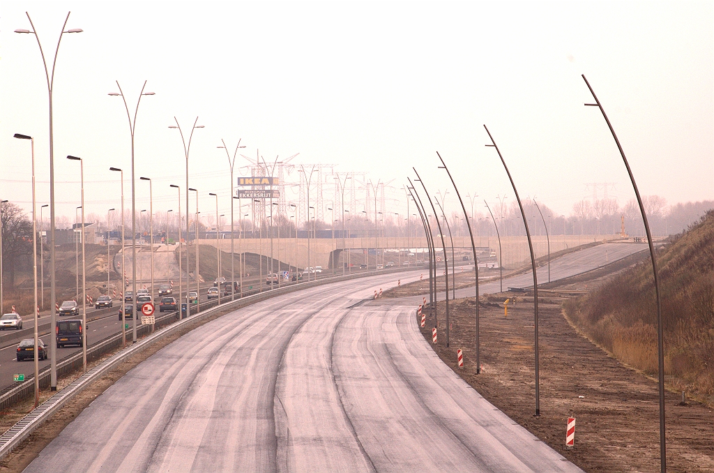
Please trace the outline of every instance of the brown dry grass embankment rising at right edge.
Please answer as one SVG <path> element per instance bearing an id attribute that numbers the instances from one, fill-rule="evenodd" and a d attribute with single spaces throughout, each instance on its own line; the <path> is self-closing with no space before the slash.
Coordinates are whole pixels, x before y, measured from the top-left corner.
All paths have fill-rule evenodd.
<path id="1" fill-rule="evenodd" d="M 714 210 L 657 255 L 665 376 L 670 387 L 714 404 Z M 565 313 L 614 357 L 657 374 L 657 303 L 649 261 L 619 274 Z"/>

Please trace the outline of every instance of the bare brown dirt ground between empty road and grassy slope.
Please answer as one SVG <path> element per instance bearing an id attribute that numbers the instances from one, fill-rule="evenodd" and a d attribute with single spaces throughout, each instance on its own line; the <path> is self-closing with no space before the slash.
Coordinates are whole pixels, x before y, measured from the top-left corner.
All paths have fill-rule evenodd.
<path id="1" fill-rule="evenodd" d="M 577 282 L 573 285 L 583 284 Z M 589 286 L 590 284 L 588 284 Z M 508 295 L 508 294 L 504 294 Z M 541 302 L 542 301 L 542 302 Z M 609 357 L 578 332 L 561 311 L 563 299 L 539 298 L 540 417 L 535 414 L 533 298 L 515 306 L 481 305 L 483 371 L 476 374 L 474 299 L 450 302 L 451 347 L 446 347 L 443 302 L 438 304 L 436 353 L 483 397 L 587 472 L 657 471 L 657 384 Z M 433 317 L 421 329 L 431 344 Z M 456 365 L 463 349 L 465 366 Z M 667 460 L 672 472 L 714 471 L 714 414 L 680 394 L 666 394 Z M 575 417 L 575 447 L 565 449 L 565 425 Z"/>

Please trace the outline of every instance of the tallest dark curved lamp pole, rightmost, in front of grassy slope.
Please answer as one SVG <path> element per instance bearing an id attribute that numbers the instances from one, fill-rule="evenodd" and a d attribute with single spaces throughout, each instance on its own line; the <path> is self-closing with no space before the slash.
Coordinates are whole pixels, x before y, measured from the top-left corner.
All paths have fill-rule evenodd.
<path id="1" fill-rule="evenodd" d="M 603 114 L 603 118 L 605 119 L 605 123 L 608 124 L 608 128 L 610 129 L 610 134 L 613 135 L 613 139 L 615 139 L 615 144 L 618 146 L 618 150 L 620 151 L 620 156 L 623 158 L 623 162 L 625 163 L 625 168 L 627 168 L 628 174 L 630 176 L 630 181 L 632 181 L 632 186 L 633 189 L 635 189 L 635 196 L 637 196 L 637 203 L 640 206 L 640 213 L 642 214 L 642 220 L 643 223 L 645 224 L 645 232 L 647 234 L 647 243 L 648 247 L 650 248 L 650 259 L 652 260 L 652 272 L 654 275 L 655 279 L 655 297 L 657 299 L 657 362 L 658 362 L 658 384 L 659 384 L 659 397 L 660 397 L 660 470 L 665 473 L 667 471 L 667 439 L 665 437 L 665 359 L 664 359 L 664 335 L 663 335 L 663 327 L 662 327 L 662 302 L 660 299 L 660 283 L 658 279 L 658 274 L 657 274 L 657 261 L 655 259 L 655 247 L 652 243 L 652 234 L 650 233 L 650 224 L 647 221 L 647 214 L 645 212 L 645 206 L 642 201 L 642 197 L 640 196 L 640 191 L 637 187 L 637 183 L 635 182 L 635 176 L 632 174 L 632 169 L 630 169 L 630 164 L 628 163 L 627 158 L 625 158 L 625 151 L 623 151 L 623 147 L 620 146 L 620 140 L 618 139 L 618 136 L 615 134 L 615 129 L 613 129 L 612 124 L 610 124 L 610 119 L 608 119 L 607 114 L 605 114 L 605 109 L 603 109 L 603 105 L 600 104 L 600 101 L 598 100 L 598 97 L 595 96 L 595 91 L 593 91 L 593 88 L 590 87 L 590 83 L 588 82 L 588 79 L 585 79 L 585 75 L 583 75 L 583 80 L 585 81 L 585 84 L 588 86 L 588 89 L 590 89 L 590 94 L 593 94 L 593 99 L 595 99 L 595 104 L 585 104 L 586 106 L 597 106 L 598 109 L 600 109 L 600 112 Z"/>

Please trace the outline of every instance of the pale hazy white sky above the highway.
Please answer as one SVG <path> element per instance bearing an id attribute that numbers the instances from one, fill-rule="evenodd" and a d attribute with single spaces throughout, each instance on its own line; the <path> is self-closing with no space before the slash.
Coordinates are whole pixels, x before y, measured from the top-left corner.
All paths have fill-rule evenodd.
<path id="1" fill-rule="evenodd" d="M 266 160 L 336 164 L 401 186 L 423 175 L 432 193 L 449 189 L 436 151 L 463 194 L 509 196 L 486 124 L 522 197 L 558 213 L 613 183 L 633 197 L 622 159 L 580 77 L 605 106 L 643 195 L 669 204 L 714 199 L 714 8 L 703 2 L 111 2 L 0 3 L 0 197 L 30 208 L 29 143 L 36 136 L 37 195 L 49 200 L 48 97 L 28 11 L 51 62 L 67 11 L 54 81 L 58 214 L 79 205 L 85 159 L 86 211 L 119 208 L 126 169 L 131 208 L 129 121 L 136 122 L 136 199 L 176 209 L 169 184 L 185 182 L 174 116 L 204 129 L 191 144 L 191 186 L 201 206 L 220 196 L 228 214 L 228 160 L 216 149 L 239 138 Z M 232 151 L 231 151 L 232 152 Z M 247 164 L 238 157 L 236 166 Z M 236 174 L 246 174 L 246 170 Z M 291 180 L 297 181 L 293 173 Z M 182 192 L 185 189 L 181 189 Z M 453 191 L 448 194 L 453 196 Z M 599 196 L 602 196 L 600 189 Z M 192 196 L 192 204 L 193 206 Z M 479 199 L 481 201 L 481 199 Z M 389 202 L 388 202 L 389 204 Z M 447 199 L 455 209 L 456 201 Z M 183 206 L 183 205 L 182 205 Z M 483 204 L 481 204 L 483 206 Z M 182 209 L 185 211 L 185 209 Z"/>

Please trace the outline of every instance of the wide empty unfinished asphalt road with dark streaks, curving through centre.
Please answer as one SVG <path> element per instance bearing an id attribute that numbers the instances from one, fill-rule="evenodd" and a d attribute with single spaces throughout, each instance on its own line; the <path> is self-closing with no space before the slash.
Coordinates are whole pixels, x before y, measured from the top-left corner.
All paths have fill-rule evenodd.
<path id="1" fill-rule="evenodd" d="M 194 329 L 25 471 L 580 471 L 443 364 L 416 307 L 352 307 L 419 273 L 306 289 Z"/>

